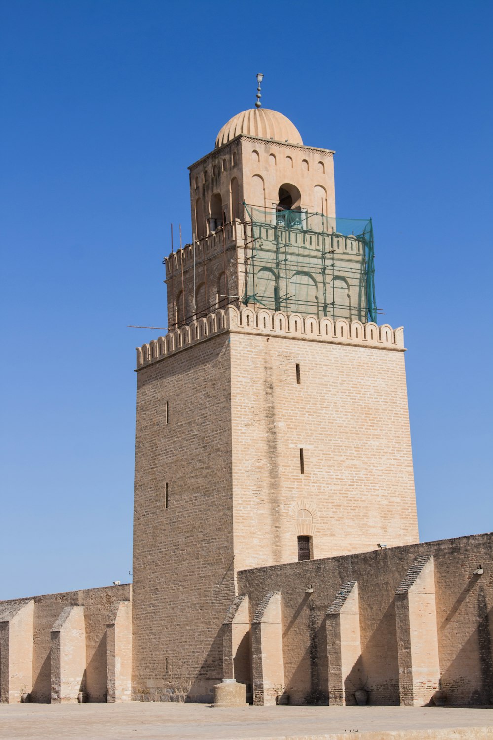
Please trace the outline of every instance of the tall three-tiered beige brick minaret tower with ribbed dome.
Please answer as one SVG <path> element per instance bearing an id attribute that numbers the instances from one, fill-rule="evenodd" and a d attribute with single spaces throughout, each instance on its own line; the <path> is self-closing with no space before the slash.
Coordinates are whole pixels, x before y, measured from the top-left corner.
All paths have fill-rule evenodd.
<path id="1" fill-rule="evenodd" d="M 238 571 L 418 540 L 403 332 L 333 152 L 256 106 L 189 169 L 170 331 L 137 349 L 136 699 L 211 700 Z"/>

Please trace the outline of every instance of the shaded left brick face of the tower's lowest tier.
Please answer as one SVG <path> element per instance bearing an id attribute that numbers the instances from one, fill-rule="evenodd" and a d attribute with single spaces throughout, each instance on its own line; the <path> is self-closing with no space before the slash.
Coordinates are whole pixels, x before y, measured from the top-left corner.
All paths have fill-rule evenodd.
<path id="1" fill-rule="evenodd" d="M 226 333 L 137 373 L 133 696 L 211 702 L 234 599 Z"/>

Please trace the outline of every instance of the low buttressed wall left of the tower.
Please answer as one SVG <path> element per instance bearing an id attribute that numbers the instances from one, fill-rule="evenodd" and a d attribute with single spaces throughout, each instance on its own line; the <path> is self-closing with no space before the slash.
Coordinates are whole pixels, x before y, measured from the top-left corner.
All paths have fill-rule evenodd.
<path id="1" fill-rule="evenodd" d="M 1 702 L 18 702 L 22 693 L 30 702 L 76 702 L 79 693 L 106 702 L 107 623 L 115 602 L 131 608 L 131 593 L 125 584 L 0 602 Z M 121 656 L 131 646 L 127 620 Z"/>

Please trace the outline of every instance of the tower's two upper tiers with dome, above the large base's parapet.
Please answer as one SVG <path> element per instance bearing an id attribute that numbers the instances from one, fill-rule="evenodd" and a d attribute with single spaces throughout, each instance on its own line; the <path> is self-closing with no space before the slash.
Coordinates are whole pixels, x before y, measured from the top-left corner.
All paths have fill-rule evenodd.
<path id="1" fill-rule="evenodd" d="M 336 219 L 334 152 L 282 113 L 238 113 L 190 170 L 193 244 L 166 263 L 168 326 L 231 303 L 375 320 L 368 219 Z"/>

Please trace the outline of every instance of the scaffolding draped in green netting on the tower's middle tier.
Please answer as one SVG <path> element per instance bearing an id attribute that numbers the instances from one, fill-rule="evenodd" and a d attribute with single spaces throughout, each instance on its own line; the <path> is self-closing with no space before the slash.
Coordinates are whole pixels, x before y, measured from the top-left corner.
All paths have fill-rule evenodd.
<path id="1" fill-rule="evenodd" d="M 243 207 L 245 306 L 375 321 L 371 218 Z"/>

